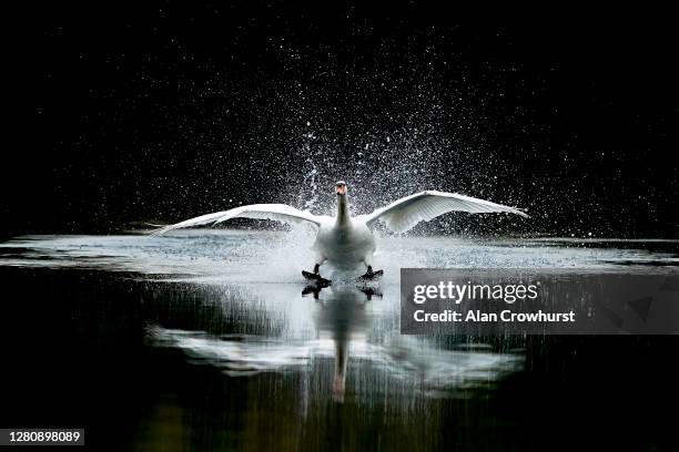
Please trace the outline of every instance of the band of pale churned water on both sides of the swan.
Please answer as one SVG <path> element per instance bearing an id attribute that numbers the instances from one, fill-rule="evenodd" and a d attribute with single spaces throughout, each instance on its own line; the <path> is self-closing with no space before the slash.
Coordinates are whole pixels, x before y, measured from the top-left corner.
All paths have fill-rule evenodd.
<path id="1" fill-rule="evenodd" d="M 99 268 L 168 278 L 234 282 L 303 282 L 313 261 L 313 232 L 185 229 L 162 237 L 27 236 L 0 244 L 0 265 Z M 581 268 L 661 271 L 679 265 L 679 242 L 378 237 L 376 268 L 397 284 L 399 268 Z M 656 248 L 650 250 L 649 248 Z M 657 267 L 661 265 L 662 267 Z"/>

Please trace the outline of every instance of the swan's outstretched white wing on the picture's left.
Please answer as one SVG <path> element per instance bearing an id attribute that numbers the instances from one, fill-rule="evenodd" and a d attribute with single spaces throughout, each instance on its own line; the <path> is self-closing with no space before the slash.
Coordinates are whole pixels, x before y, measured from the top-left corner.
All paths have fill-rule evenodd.
<path id="1" fill-rule="evenodd" d="M 231 218 L 256 218 L 256 219 L 273 219 L 287 224 L 313 223 L 321 226 L 322 217 L 303 212 L 297 208 L 286 206 L 285 204 L 252 204 L 250 206 L 241 206 L 230 210 L 215 212 L 214 214 L 202 215 L 200 217 L 186 219 L 185 222 L 168 225 L 153 230 L 152 234 L 163 234 L 168 230 L 179 229 L 182 227 L 200 226 L 200 225 L 216 225 L 226 222 Z"/>

